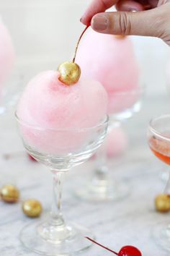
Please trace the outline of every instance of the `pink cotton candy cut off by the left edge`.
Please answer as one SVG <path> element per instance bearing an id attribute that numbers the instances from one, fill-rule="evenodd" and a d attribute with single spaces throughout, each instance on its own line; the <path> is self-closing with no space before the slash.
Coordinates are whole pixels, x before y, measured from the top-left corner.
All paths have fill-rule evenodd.
<path id="1" fill-rule="evenodd" d="M 4 23 L 0 20 L 0 85 L 6 80 L 14 66 L 14 46 Z"/>

